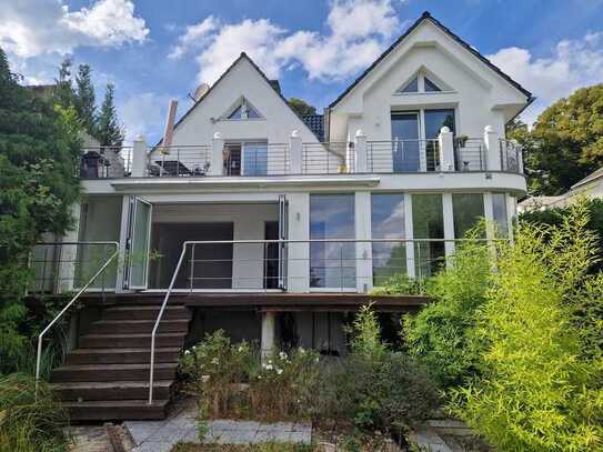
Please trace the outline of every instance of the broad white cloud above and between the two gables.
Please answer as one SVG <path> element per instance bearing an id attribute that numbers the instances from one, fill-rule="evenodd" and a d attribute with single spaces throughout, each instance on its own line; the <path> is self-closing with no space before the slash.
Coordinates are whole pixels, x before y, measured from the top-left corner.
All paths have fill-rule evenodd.
<path id="1" fill-rule="evenodd" d="M 210 16 L 188 27 L 170 57 L 195 54 L 199 81 L 214 82 L 241 51 L 268 77 L 300 64 L 311 79 L 340 79 L 372 62 L 400 29 L 392 0 L 334 0 L 326 32 L 289 32 L 269 19 L 223 23 Z"/>

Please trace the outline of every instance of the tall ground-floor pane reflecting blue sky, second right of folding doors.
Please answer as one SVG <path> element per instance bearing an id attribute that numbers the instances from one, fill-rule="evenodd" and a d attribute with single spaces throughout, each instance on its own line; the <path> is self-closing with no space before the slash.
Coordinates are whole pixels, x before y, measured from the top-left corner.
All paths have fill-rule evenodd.
<path id="1" fill-rule="evenodd" d="M 373 194 L 371 197 L 371 230 L 373 239 L 404 239 L 404 195 Z M 373 285 L 396 274 L 406 273 L 404 242 L 374 242 Z"/>

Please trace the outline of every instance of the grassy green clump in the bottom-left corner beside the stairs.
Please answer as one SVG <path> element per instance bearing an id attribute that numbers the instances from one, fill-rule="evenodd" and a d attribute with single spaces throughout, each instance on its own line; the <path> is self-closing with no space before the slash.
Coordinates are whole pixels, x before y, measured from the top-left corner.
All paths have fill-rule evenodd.
<path id="1" fill-rule="evenodd" d="M 67 451 L 67 412 L 43 382 L 36 398 L 31 376 L 14 373 L 0 378 L 1 452 Z"/>

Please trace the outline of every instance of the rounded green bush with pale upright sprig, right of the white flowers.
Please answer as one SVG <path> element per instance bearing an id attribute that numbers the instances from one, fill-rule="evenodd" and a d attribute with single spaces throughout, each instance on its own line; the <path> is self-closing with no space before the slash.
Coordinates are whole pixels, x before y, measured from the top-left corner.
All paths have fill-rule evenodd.
<path id="1" fill-rule="evenodd" d="M 376 315 L 363 307 L 353 323 L 351 353 L 331 364 L 319 385 L 323 418 L 351 421 L 362 430 L 392 429 L 424 419 L 438 405 L 425 370 L 381 341 Z"/>

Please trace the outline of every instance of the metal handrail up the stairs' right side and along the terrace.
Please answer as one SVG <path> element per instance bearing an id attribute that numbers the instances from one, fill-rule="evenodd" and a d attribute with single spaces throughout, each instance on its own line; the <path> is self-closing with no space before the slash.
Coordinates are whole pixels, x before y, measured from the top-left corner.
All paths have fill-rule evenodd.
<path id="1" fill-rule="evenodd" d="M 150 368 L 149 368 L 149 404 L 153 403 L 153 382 L 154 382 L 154 350 L 155 350 L 155 335 L 157 330 L 159 329 L 159 324 L 161 323 L 161 319 L 163 317 L 163 312 L 165 311 L 165 308 L 168 305 L 168 301 L 170 299 L 170 295 L 173 292 L 173 287 L 175 284 L 177 277 L 180 272 L 180 269 L 182 267 L 182 262 L 184 261 L 184 255 L 187 253 L 188 245 L 197 245 L 197 244 L 290 244 L 290 243 L 414 243 L 414 242 L 425 242 L 425 243 L 446 243 L 446 242 L 495 242 L 495 241 L 507 241 L 509 239 L 500 239 L 500 238 L 491 238 L 491 239 L 274 239 L 274 240 L 261 240 L 261 239 L 249 239 L 249 240 L 191 240 L 185 241 L 182 243 L 182 252 L 180 253 L 180 258 L 178 259 L 178 264 L 175 265 L 175 270 L 172 274 L 172 279 L 170 281 L 170 285 L 165 292 L 165 297 L 163 298 L 163 302 L 161 304 L 161 308 L 159 310 L 159 313 L 155 319 L 155 323 L 153 325 L 153 330 L 151 332 L 151 358 L 150 358 Z M 193 248 L 194 250 L 194 248 Z M 421 259 L 421 247 L 419 247 L 419 259 Z M 288 261 L 291 259 L 288 259 Z M 294 260 L 294 259 L 293 259 Z M 348 260 L 348 259 L 346 259 Z M 355 260 L 355 259 L 354 259 Z M 193 255 L 194 261 L 194 255 Z M 194 261 L 197 262 L 197 261 Z M 421 272 L 421 269 L 419 269 Z M 192 265 L 191 265 L 191 273 L 192 273 Z M 192 291 L 192 278 L 191 278 L 191 287 L 190 290 Z"/>

